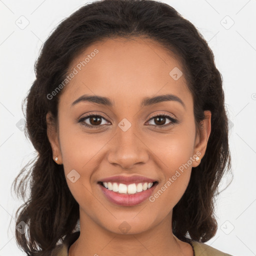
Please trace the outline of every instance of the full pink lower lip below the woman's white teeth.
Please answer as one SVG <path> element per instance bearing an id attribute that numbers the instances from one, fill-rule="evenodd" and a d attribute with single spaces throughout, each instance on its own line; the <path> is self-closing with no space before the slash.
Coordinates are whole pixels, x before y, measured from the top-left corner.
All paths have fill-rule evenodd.
<path id="1" fill-rule="evenodd" d="M 141 192 L 137 192 L 135 194 L 123 194 L 123 193 L 117 193 L 113 192 L 111 190 L 108 190 L 101 184 L 98 184 L 104 193 L 104 195 L 113 203 L 122 205 L 122 206 L 132 206 L 139 204 L 143 202 L 145 199 L 147 199 L 153 192 L 155 186 L 157 183 L 153 186 L 151 186 L 149 189 L 143 190 Z"/>

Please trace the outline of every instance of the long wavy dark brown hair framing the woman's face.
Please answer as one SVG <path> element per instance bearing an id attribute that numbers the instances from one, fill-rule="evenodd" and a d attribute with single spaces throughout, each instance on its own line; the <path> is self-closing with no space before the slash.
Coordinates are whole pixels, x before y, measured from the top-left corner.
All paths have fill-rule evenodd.
<path id="1" fill-rule="evenodd" d="M 182 241 L 201 242 L 216 233 L 214 200 L 224 172 L 230 170 L 231 159 L 222 76 L 211 49 L 195 26 L 168 4 L 154 0 L 98 0 L 62 20 L 43 43 L 34 65 L 36 78 L 22 102 L 23 106 L 26 101 L 25 136 L 38 153 L 12 183 L 24 201 L 16 211 L 16 225 L 26 223 L 26 233 L 15 230 L 15 238 L 27 255 L 43 255 L 72 233 L 79 221 L 79 205 L 68 189 L 63 165 L 52 160 L 47 138 L 45 116 L 50 111 L 53 121 L 57 119 L 58 98 L 63 90 L 50 100 L 46 95 L 65 79 L 71 61 L 93 42 L 132 36 L 151 38 L 180 60 L 192 93 L 197 127 L 205 117 L 203 111 L 211 111 L 207 148 L 173 208 L 172 232 Z"/>

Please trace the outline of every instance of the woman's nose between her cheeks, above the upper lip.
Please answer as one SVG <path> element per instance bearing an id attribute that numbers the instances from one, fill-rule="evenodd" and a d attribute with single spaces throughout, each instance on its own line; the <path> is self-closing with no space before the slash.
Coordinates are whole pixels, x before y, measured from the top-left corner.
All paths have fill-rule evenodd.
<path id="1" fill-rule="evenodd" d="M 123 131 L 119 127 L 110 141 L 108 162 L 120 165 L 122 169 L 130 169 L 135 164 L 146 163 L 148 160 L 148 148 L 133 126 Z"/>

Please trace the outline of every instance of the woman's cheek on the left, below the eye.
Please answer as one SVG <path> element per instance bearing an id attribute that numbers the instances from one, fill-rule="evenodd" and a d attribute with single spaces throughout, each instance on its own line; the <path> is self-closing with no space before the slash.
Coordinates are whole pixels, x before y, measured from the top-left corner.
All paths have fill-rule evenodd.
<path id="1" fill-rule="evenodd" d="M 64 121 L 60 123 L 59 140 L 66 182 L 73 197 L 80 204 L 84 198 L 90 201 L 89 181 L 93 171 L 91 163 L 100 146 L 95 143 L 95 139 L 93 141 L 92 136 L 85 138 L 84 133 L 78 132 L 76 126 L 78 124 Z"/>

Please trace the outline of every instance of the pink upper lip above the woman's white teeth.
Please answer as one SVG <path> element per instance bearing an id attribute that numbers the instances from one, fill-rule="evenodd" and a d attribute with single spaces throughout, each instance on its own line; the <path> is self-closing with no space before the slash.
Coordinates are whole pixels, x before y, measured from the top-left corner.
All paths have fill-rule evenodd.
<path id="1" fill-rule="evenodd" d="M 117 176 L 102 178 L 99 182 L 118 182 L 122 184 L 131 184 L 131 183 L 141 183 L 141 182 L 150 183 L 154 181 L 156 180 L 145 177 L 145 176 L 140 176 L 140 175 L 132 175 L 132 176 L 117 175 Z"/>

